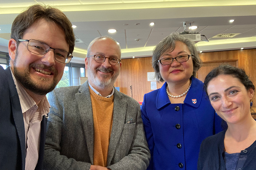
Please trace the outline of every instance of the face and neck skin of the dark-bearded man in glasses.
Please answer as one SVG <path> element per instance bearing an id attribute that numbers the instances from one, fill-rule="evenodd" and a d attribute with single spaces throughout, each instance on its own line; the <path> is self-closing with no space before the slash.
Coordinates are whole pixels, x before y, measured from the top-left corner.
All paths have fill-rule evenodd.
<path id="1" fill-rule="evenodd" d="M 64 31 L 54 22 L 47 22 L 45 19 L 35 21 L 32 26 L 25 31 L 22 39 L 39 40 L 52 48 L 69 51 L 69 45 L 65 40 Z M 15 77 L 21 76 L 17 81 L 19 81 L 23 87 L 26 86 L 27 83 L 23 82 L 23 79 L 26 79 L 32 84 L 31 86 L 33 86 L 33 88 L 37 89 L 33 90 L 33 88 L 24 87 L 38 104 L 47 94 L 47 91 L 51 91 L 51 87 L 55 87 L 60 81 L 66 64 L 55 60 L 53 49 L 50 49 L 44 55 L 38 55 L 28 51 L 27 44 L 28 42 L 20 42 L 17 46 L 17 42 L 14 39 L 9 40 L 10 66 Z M 51 74 L 36 71 L 35 68 L 50 72 Z M 36 92 L 40 90 L 44 90 L 46 93 L 39 94 Z"/>

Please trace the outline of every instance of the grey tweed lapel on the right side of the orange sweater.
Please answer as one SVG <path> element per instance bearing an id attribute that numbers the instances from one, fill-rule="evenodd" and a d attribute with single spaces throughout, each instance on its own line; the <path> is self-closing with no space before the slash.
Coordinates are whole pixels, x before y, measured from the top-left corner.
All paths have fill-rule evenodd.
<path id="1" fill-rule="evenodd" d="M 107 166 L 111 165 L 111 160 L 114 156 L 119 139 L 123 132 L 127 103 L 119 97 L 119 92 L 114 91 L 114 108 L 113 108 L 113 124 L 109 141 Z"/>

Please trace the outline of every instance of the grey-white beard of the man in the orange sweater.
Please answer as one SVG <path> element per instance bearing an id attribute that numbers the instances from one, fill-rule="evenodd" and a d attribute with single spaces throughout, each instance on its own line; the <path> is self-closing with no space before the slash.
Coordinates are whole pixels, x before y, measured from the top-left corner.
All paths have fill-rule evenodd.
<path id="1" fill-rule="evenodd" d="M 117 72 L 114 72 L 113 69 L 104 67 L 98 67 L 96 68 L 96 70 L 94 70 L 89 66 L 89 64 L 87 68 L 88 79 L 91 81 L 91 83 L 100 88 L 114 86 L 114 83 L 120 73 L 120 69 Z M 101 71 L 104 73 L 112 72 L 112 75 L 101 75 L 100 79 L 97 77 L 96 71 Z"/>

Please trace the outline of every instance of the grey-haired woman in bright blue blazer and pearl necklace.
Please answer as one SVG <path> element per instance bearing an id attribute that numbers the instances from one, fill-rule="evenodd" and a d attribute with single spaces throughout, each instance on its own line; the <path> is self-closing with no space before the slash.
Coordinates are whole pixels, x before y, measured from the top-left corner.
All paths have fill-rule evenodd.
<path id="1" fill-rule="evenodd" d="M 195 78 L 202 61 L 194 41 L 170 34 L 155 47 L 152 65 L 165 84 L 145 94 L 142 103 L 148 170 L 196 170 L 200 144 L 221 131 L 221 119 Z"/>

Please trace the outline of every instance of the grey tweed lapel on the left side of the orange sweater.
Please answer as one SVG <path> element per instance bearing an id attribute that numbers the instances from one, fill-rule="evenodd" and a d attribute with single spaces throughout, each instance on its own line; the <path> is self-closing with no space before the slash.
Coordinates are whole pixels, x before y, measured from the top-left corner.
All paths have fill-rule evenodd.
<path id="1" fill-rule="evenodd" d="M 91 106 L 91 97 L 88 81 L 81 85 L 78 94 L 75 94 L 76 103 L 78 105 L 79 114 L 81 117 L 85 142 L 89 152 L 90 162 L 93 164 L 94 152 L 94 123 L 93 123 L 93 108 Z"/>

